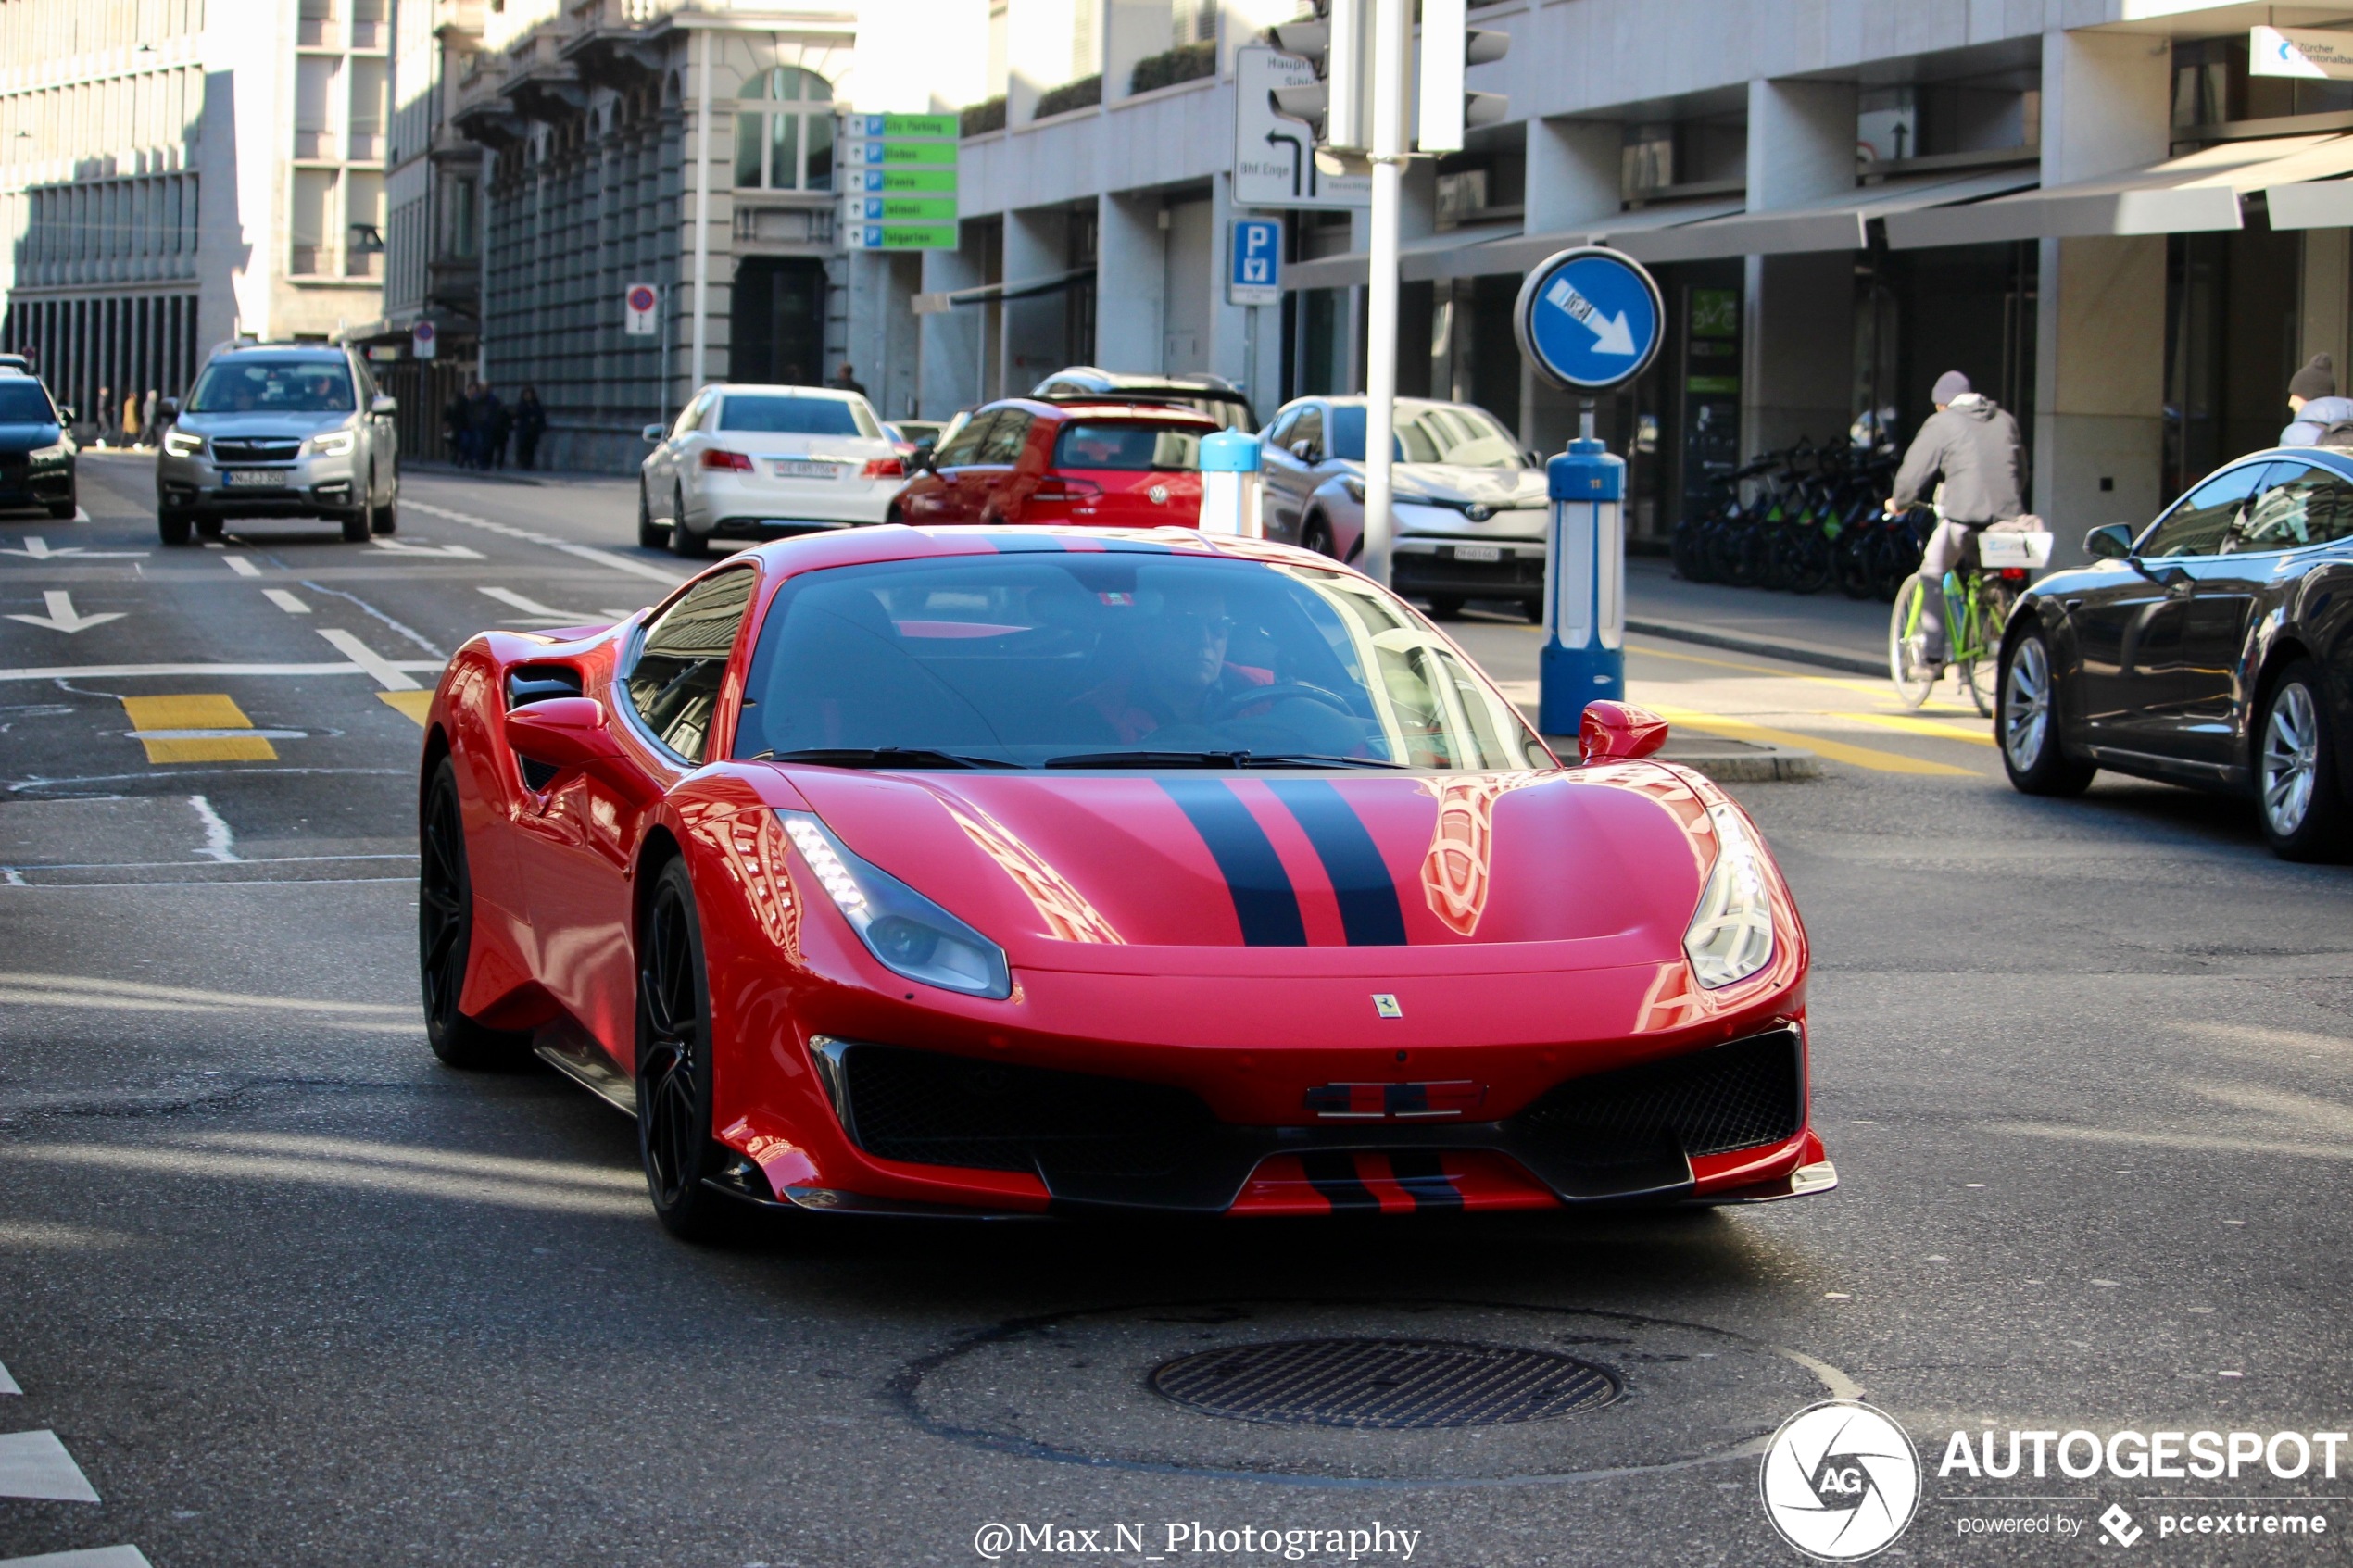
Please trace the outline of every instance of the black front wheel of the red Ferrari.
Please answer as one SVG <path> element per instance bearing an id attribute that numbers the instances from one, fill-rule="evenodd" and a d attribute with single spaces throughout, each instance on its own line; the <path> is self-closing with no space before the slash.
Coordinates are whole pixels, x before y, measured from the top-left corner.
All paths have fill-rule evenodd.
<path id="1" fill-rule="evenodd" d="M 718 1239 L 734 1201 L 704 1187 L 720 1171 L 711 1138 L 711 978 L 682 860 L 654 879 L 638 940 L 638 1150 L 654 1213 L 671 1234 Z"/>

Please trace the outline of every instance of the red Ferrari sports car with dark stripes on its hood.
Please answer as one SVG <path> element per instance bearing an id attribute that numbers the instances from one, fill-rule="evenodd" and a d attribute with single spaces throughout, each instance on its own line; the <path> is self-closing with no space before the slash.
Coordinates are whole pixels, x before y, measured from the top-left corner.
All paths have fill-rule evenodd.
<path id="1" fill-rule="evenodd" d="M 781 541 L 449 663 L 428 1032 L 633 1110 L 680 1234 L 1831 1187 L 1798 910 L 1661 738 L 1562 766 L 1306 550 Z"/>

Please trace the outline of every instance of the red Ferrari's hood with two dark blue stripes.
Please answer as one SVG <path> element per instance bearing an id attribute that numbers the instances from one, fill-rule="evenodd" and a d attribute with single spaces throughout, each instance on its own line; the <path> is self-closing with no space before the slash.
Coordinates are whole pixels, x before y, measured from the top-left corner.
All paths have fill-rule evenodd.
<path id="1" fill-rule="evenodd" d="M 788 769 L 859 856 L 1005 945 L 1106 973 L 1682 961 L 1715 858 L 1654 762 L 1544 773 Z"/>

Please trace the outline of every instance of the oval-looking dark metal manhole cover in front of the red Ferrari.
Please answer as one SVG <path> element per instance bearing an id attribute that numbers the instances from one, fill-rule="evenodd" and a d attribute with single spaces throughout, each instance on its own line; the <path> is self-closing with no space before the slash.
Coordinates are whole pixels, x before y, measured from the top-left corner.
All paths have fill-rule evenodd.
<path id="1" fill-rule="evenodd" d="M 1551 1420 L 1619 1396 L 1574 1356 L 1440 1340 L 1228 1345 L 1162 1363 L 1153 1389 L 1209 1415 L 1372 1432 Z"/>

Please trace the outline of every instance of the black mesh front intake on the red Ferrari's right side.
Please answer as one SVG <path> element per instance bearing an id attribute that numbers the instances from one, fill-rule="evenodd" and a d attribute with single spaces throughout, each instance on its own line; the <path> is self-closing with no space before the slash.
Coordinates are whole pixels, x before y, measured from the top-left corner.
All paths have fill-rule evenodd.
<path id="1" fill-rule="evenodd" d="M 1541 1140 L 1624 1157 L 1673 1138 L 1685 1154 L 1784 1143 L 1805 1126 L 1798 1030 L 1774 1030 L 1664 1063 L 1569 1079 L 1513 1119 Z"/>

